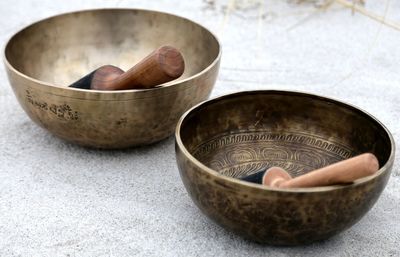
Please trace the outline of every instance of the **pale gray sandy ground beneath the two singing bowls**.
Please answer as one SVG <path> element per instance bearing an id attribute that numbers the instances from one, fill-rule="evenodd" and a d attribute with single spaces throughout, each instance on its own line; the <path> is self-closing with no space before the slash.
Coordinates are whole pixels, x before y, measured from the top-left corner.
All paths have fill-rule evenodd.
<path id="1" fill-rule="evenodd" d="M 323 12 L 293 2 L 2 0 L 0 40 L 4 46 L 22 26 L 86 8 L 183 15 L 222 42 L 213 97 L 271 88 L 326 95 L 372 113 L 399 141 L 400 31 L 339 5 Z M 399 1 L 366 2 L 400 21 Z M 379 201 L 351 229 L 306 247 L 260 246 L 199 212 L 179 179 L 172 137 L 125 151 L 63 142 L 28 119 L 0 69 L 0 256 L 400 256 L 397 162 Z"/>

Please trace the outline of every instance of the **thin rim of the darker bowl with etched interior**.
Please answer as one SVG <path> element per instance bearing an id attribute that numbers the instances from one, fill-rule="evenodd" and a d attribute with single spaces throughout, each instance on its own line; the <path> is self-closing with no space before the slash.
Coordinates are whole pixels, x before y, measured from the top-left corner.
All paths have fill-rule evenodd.
<path id="1" fill-rule="evenodd" d="M 242 95 L 251 95 L 251 94 L 285 94 L 285 95 L 296 95 L 296 96 L 302 96 L 302 97 L 312 97 L 312 98 L 317 98 L 319 100 L 327 101 L 327 102 L 330 102 L 330 103 L 333 103 L 333 104 L 336 104 L 336 105 L 341 105 L 343 107 L 350 108 L 352 110 L 358 111 L 361 114 L 364 114 L 368 118 L 372 119 L 374 122 L 376 122 L 378 125 L 380 125 L 384 129 L 384 131 L 386 132 L 386 134 L 387 134 L 387 136 L 388 136 L 388 138 L 390 140 L 390 146 L 391 146 L 391 151 L 390 151 L 389 158 L 386 161 L 386 163 L 382 167 L 380 167 L 380 169 L 375 174 L 373 174 L 371 176 L 368 176 L 368 177 L 357 179 L 352 184 L 346 184 L 346 185 L 332 185 L 332 186 L 309 187 L 309 188 L 274 188 L 274 187 L 269 187 L 269 186 L 265 186 L 265 185 L 259 185 L 259 184 L 255 184 L 255 183 L 251 183 L 251 182 L 242 181 L 242 180 L 237 179 L 237 178 L 233 178 L 233 177 L 222 175 L 222 174 L 218 173 L 217 171 L 207 167 L 206 165 L 204 165 L 199 160 L 197 160 L 186 149 L 185 145 L 182 142 L 181 136 L 180 136 L 180 131 L 181 131 L 182 124 L 185 121 L 185 119 L 192 112 L 196 111 L 198 108 L 201 108 L 203 106 L 206 106 L 206 105 L 209 105 L 209 104 L 213 104 L 213 103 L 218 102 L 220 100 L 225 100 L 225 99 L 228 99 L 228 98 L 231 98 L 231 97 L 239 97 L 239 96 L 242 96 Z M 383 173 L 388 171 L 390 169 L 390 167 L 393 165 L 394 157 L 395 157 L 395 141 L 394 141 L 394 138 L 393 138 L 392 134 L 386 128 L 386 126 L 383 125 L 383 123 L 380 122 L 373 115 L 371 115 L 370 113 L 364 111 L 363 109 L 361 109 L 359 107 L 356 107 L 355 105 L 349 104 L 347 102 L 343 102 L 343 101 L 340 101 L 340 100 L 337 100 L 337 99 L 334 99 L 334 98 L 331 98 L 331 97 L 326 97 L 326 96 L 317 95 L 317 94 L 311 94 L 311 93 L 297 91 L 297 90 L 275 90 L 275 89 L 270 89 L 270 90 L 246 90 L 246 91 L 240 91 L 240 92 L 236 92 L 236 93 L 225 94 L 225 95 L 222 95 L 222 96 L 219 96 L 219 97 L 215 97 L 215 98 L 203 101 L 203 102 L 193 106 L 189 110 L 187 110 L 181 116 L 181 118 L 179 119 L 179 121 L 177 123 L 176 129 L 175 129 L 175 142 L 176 142 L 176 145 L 179 148 L 179 150 L 182 151 L 182 153 L 186 156 L 186 158 L 188 158 L 192 162 L 192 164 L 197 166 L 200 170 L 203 170 L 203 171 L 207 172 L 208 175 L 210 175 L 210 176 L 213 176 L 215 178 L 228 181 L 228 182 L 236 184 L 238 186 L 244 186 L 244 187 L 249 187 L 249 188 L 257 188 L 257 189 L 261 189 L 263 191 L 277 191 L 277 192 L 315 193 L 315 192 L 328 192 L 328 191 L 333 191 L 333 190 L 338 190 L 338 189 L 357 187 L 359 185 L 365 184 L 365 183 L 367 183 L 367 182 L 369 182 L 369 181 L 381 176 Z M 177 153 L 177 149 L 176 149 L 176 153 Z"/>

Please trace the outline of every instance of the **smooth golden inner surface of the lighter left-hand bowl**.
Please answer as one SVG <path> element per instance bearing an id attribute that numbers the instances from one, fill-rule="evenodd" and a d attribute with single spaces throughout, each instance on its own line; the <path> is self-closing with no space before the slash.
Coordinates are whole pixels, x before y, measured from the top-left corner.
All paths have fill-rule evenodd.
<path id="1" fill-rule="evenodd" d="M 170 14 L 129 9 L 82 11 L 37 22 L 7 44 L 6 59 L 19 72 L 67 86 L 111 64 L 127 70 L 161 45 L 179 49 L 185 72 L 208 67 L 219 54 L 216 38 L 200 25 Z"/>

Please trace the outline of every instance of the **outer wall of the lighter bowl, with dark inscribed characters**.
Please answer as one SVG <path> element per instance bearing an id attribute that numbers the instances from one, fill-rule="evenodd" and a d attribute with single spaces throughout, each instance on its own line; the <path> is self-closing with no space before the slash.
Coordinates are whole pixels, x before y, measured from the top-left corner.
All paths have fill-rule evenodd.
<path id="1" fill-rule="evenodd" d="M 126 148 L 173 134 L 179 117 L 206 100 L 214 87 L 219 61 L 200 76 L 173 87 L 110 94 L 68 90 L 27 80 L 7 67 L 15 96 L 28 116 L 54 135 L 84 146 Z M 65 94 L 65 92 L 68 92 Z M 85 95 L 90 94 L 90 98 Z M 103 99 L 108 98 L 108 99 Z"/>

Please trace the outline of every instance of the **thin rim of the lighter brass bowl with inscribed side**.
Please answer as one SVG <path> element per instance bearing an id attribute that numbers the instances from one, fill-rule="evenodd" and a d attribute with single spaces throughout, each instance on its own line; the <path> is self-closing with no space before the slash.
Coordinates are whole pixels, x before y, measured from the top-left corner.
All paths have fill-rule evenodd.
<path id="1" fill-rule="evenodd" d="M 158 14 L 163 14 L 163 15 L 169 15 L 169 16 L 173 16 L 175 18 L 179 18 L 182 20 L 185 20 L 187 22 L 191 22 L 197 26 L 199 26 L 200 28 L 204 29 L 205 31 L 207 31 L 208 33 L 210 33 L 210 35 L 215 39 L 217 46 L 218 46 L 218 54 L 215 57 L 215 59 L 207 66 L 205 67 L 203 70 L 201 70 L 200 72 L 187 77 L 185 79 L 182 80 L 173 80 L 164 84 L 161 84 L 157 87 L 154 88 L 149 88 L 149 89 L 126 89 L 126 90 L 87 90 L 87 89 L 80 89 L 80 88 L 70 88 L 67 86 L 62 86 L 62 85 L 56 85 L 53 83 L 49 83 L 46 81 L 42 81 L 39 79 L 35 79 L 33 77 L 30 77 L 22 72 L 20 72 L 19 70 L 17 70 L 16 68 L 14 68 L 13 65 L 11 65 L 11 63 L 9 62 L 7 56 L 6 56 L 6 50 L 8 48 L 8 46 L 10 45 L 11 41 L 14 39 L 14 37 L 16 35 L 18 35 L 19 33 L 23 32 L 24 30 L 35 26 L 41 22 L 44 22 L 46 20 L 50 20 L 50 19 L 55 19 L 58 17 L 62 17 L 62 16 L 69 16 L 69 15 L 74 15 L 74 14 L 79 14 L 79 13 L 86 13 L 86 12 L 97 12 L 97 11 L 139 11 L 139 12 L 147 12 L 147 13 L 158 13 Z M 131 92 L 148 92 L 148 91 L 159 91 L 159 90 L 163 90 L 166 88 L 171 88 L 173 86 L 177 86 L 180 84 L 183 84 L 187 81 L 196 79 L 200 76 L 202 76 L 204 73 L 208 72 L 210 69 L 212 69 L 221 59 L 221 55 L 222 55 L 222 47 L 221 47 L 221 42 L 219 41 L 218 37 L 216 36 L 215 33 L 213 33 L 210 29 L 206 28 L 205 26 L 201 25 L 200 23 L 191 20 L 189 18 L 177 15 L 177 14 L 173 14 L 170 12 L 163 12 L 163 11 L 158 11 L 158 10 L 152 10 L 152 9 L 146 9 L 146 8 L 124 8 L 124 7 L 116 7 L 116 8 L 89 8 L 89 9 L 81 9 L 81 10 L 74 10 L 74 11 L 68 11 L 68 12 L 62 12 L 59 14 L 55 14 L 55 15 L 51 15 L 42 19 L 38 19 L 34 22 L 29 23 L 28 25 L 23 26 L 22 28 L 20 28 L 19 30 L 17 30 L 16 32 L 14 32 L 6 41 L 6 43 L 3 46 L 2 49 L 2 58 L 3 58 L 3 63 L 5 64 L 5 66 L 7 67 L 7 69 L 11 70 L 12 72 L 16 73 L 17 75 L 23 77 L 24 79 L 29 80 L 30 82 L 36 83 L 36 84 L 40 84 L 42 86 L 46 86 L 46 87 L 50 87 L 50 88 L 57 88 L 57 89 L 66 89 L 67 91 L 76 91 L 76 92 L 83 92 L 83 93 L 88 93 L 88 92 L 92 92 L 92 93 L 98 93 L 98 94 L 124 94 L 124 93 L 131 93 Z M 70 96 L 71 97 L 71 96 Z"/>

